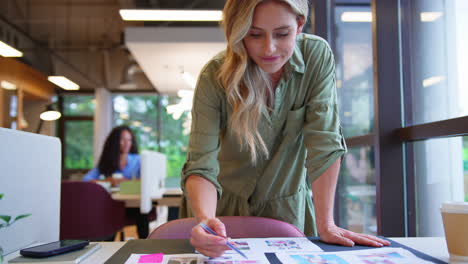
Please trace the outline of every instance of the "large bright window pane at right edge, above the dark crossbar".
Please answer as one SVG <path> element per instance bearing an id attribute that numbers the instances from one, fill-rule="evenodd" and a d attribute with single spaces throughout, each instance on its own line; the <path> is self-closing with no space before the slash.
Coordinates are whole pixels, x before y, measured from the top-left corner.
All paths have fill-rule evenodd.
<path id="1" fill-rule="evenodd" d="M 415 0 L 407 9 L 406 125 L 468 115 L 468 1 Z"/>

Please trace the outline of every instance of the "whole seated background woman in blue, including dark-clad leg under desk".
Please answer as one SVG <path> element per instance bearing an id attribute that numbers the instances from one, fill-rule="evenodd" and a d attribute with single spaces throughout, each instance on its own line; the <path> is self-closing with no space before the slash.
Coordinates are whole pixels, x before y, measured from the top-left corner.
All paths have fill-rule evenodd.
<path id="1" fill-rule="evenodd" d="M 123 177 L 114 178 L 113 174 Z M 122 181 L 140 178 L 140 156 L 138 144 L 132 130 L 128 126 L 117 126 L 107 136 L 104 148 L 96 168 L 89 171 L 84 181 L 110 181 L 112 186 Z M 139 238 L 146 238 L 149 233 L 149 221 L 156 217 L 155 209 L 146 214 L 140 213 L 140 208 L 127 208 L 127 225 L 136 224 Z"/>

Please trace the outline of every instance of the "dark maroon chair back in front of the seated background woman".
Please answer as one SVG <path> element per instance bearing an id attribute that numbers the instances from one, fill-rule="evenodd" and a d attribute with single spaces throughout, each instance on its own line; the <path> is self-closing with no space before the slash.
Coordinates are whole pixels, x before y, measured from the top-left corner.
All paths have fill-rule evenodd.
<path id="1" fill-rule="evenodd" d="M 96 240 L 125 225 L 125 203 L 115 201 L 99 184 L 62 182 L 60 239 Z"/>

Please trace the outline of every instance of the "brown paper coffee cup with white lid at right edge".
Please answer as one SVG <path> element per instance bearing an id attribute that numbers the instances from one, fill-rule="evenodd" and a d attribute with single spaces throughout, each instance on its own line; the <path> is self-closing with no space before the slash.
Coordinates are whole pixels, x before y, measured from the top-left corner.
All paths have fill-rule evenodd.
<path id="1" fill-rule="evenodd" d="M 440 211 L 450 260 L 468 262 L 468 203 L 446 202 Z"/>

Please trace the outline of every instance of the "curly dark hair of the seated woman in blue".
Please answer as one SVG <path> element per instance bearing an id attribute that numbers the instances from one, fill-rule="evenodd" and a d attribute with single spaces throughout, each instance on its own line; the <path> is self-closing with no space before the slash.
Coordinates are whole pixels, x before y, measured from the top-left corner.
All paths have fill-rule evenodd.
<path id="1" fill-rule="evenodd" d="M 128 131 L 130 135 L 132 135 L 132 147 L 130 148 L 130 153 L 138 154 L 138 144 L 130 127 L 114 127 L 106 138 L 98 163 L 100 173 L 104 174 L 106 177 L 111 176 L 112 173 L 119 170 L 120 135 L 124 130 Z"/>

